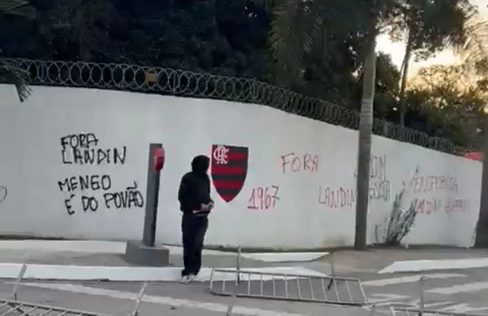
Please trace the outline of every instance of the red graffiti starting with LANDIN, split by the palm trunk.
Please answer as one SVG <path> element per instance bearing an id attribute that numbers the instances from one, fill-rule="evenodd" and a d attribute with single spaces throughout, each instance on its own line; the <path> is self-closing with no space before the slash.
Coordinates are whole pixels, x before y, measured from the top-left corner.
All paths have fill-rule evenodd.
<path id="1" fill-rule="evenodd" d="M 391 199 L 391 183 L 386 173 L 386 155 L 371 155 L 369 165 L 369 198 L 388 202 Z M 357 165 L 357 163 L 356 163 Z M 355 178 L 358 169 L 353 173 L 353 184 L 350 187 L 319 187 L 318 203 L 329 209 L 352 209 L 356 203 Z"/>

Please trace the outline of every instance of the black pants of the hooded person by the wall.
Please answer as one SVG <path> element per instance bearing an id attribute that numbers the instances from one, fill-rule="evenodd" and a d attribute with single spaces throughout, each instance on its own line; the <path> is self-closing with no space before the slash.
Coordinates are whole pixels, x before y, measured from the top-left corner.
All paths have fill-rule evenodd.
<path id="1" fill-rule="evenodd" d="M 181 275 L 197 275 L 200 272 L 203 239 L 208 226 L 208 216 L 183 213 L 181 232 L 183 233 L 183 263 L 185 267 L 181 271 Z"/>

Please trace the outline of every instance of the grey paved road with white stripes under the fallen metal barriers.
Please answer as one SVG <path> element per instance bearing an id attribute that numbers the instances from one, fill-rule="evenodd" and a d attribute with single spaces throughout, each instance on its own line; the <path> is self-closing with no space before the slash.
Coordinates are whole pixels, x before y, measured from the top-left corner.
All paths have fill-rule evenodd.
<path id="1" fill-rule="evenodd" d="M 419 279 L 425 275 L 424 302 L 426 308 L 447 312 L 488 315 L 488 269 L 434 271 L 379 275 L 351 274 L 360 277 L 368 299 L 379 312 L 388 312 L 391 304 L 417 307 Z M 277 283 L 278 286 L 278 283 Z M 8 298 L 12 281 L 0 282 L 0 297 Z M 32 282 L 24 281 L 18 299 L 37 304 L 63 306 L 110 315 L 129 315 L 134 308 L 140 284 L 98 282 Z M 303 292 L 302 292 L 303 294 Z M 305 295 L 305 294 L 303 294 Z M 181 285 L 176 283 L 151 284 L 141 305 L 141 316 L 224 315 L 232 298 L 212 295 L 207 283 Z M 3 315 L 14 316 L 17 314 Z M 235 314 L 248 316 L 301 315 L 369 315 L 368 307 L 340 307 L 321 303 L 283 302 L 259 299 L 238 299 Z M 35 316 L 35 313 L 31 313 Z M 57 316 L 49 314 L 46 316 Z"/>

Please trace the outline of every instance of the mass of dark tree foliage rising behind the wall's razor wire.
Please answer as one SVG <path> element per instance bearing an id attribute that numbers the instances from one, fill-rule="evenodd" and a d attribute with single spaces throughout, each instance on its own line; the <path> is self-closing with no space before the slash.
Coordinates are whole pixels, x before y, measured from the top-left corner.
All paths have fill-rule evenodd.
<path id="1" fill-rule="evenodd" d="M 365 44 L 381 30 L 399 40 L 415 30 L 418 58 L 466 40 L 459 51 L 477 57 L 473 67 L 488 73 L 488 58 L 474 53 L 487 33 L 473 12 L 465 0 L 0 0 L 0 43 L 4 57 L 250 77 L 359 109 Z M 18 70 L 0 64 L 1 80 L 16 84 L 24 100 L 27 74 Z M 398 122 L 400 77 L 391 59 L 378 54 L 376 117 Z M 488 89 L 486 78 L 480 76 L 480 90 Z M 439 107 L 441 97 L 450 105 Z M 407 94 L 405 124 L 468 146 L 473 133 L 456 116 L 466 104 L 479 109 L 482 100 L 474 92 L 449 94 L 448 87 L 416 88 Z"/>

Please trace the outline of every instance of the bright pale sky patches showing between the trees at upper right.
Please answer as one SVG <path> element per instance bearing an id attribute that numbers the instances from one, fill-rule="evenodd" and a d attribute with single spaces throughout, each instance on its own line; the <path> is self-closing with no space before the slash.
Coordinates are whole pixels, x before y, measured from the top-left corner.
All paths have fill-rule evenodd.
<path id="1" fill-rule="evenodd" d="M 486 7 L 488 5 L 487 0 L 471 0 L 471 3 L 474 5 L 477 5 L 479 8 L 479 12 L 486 18 L 488 18 L 488 8 Z M 378 36 L 377 39 L 377 50 L 382 51 L 385 53 L 388 53 L 391 55 L 391 59 L 395 65 L 397 65 L 398 68 L 401 67 L 403 57 L 405 54 L 405 44 L 402 42 L 399 43 L 392 43 L 388 39 L 388 35 L 380 35 Z M 452 64 L 456 62 L 456 57 L 453 54 L 452 51 L 446 50 L 443 52 L 438 53 L 434 58 L 430 58 L 426 61 L 421 61 L 421 62 L 415 62 L 411 61 L 410 62 L 410 67 L 409 67 L 409 74 L 408 77 L 415 76 L 417 71 L 422 68 L 426 67 L 429 65 L 438 65 L 438 64 Z"/>

